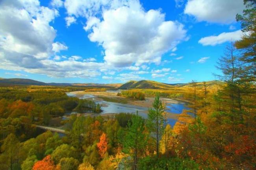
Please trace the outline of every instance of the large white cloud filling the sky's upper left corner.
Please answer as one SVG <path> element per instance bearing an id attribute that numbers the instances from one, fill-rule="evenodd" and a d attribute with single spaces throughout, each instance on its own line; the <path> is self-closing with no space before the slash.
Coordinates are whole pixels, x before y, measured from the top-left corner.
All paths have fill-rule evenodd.
<path id="1" fill-rule="evenodd" d="M 1 1 L 0 51 L 8 60 L 17 62 L 26 56 L 26 64 L 33 63 L 52 51 L 56 30 L 49 23 L 59 14 L 39 4 L 38 0 Z"/>

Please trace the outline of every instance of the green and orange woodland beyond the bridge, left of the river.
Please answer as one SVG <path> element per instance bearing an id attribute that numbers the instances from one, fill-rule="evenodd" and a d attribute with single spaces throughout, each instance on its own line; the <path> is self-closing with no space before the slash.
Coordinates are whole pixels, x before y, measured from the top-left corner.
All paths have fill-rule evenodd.
<path id="1" fill-rule="evenodd" d="M 30 89 L 31 90 L 31 89 Z M 28 88 L 0 88 L 0 118 L 26 116 L 32 122 L 48 124 L 51 117 L 62 116 L 72 111 L 101 112 L 100 105 L 93 101 L 68 97 L 59 90 Z"/>

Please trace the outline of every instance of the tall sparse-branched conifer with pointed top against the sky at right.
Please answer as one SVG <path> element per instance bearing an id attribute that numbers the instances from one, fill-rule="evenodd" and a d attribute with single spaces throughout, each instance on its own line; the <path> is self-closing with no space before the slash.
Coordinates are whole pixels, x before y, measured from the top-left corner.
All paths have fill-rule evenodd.
<path id="1" fill-rule="evenodd" d="M 232 122 L 243 121 L 243 93 L 248 89 L 247 84 L 241 81 L 243 63 L 239 61 L 237 55 L 239 54 L 234 43 L 231 42 L 216 66 L 222 71 L 222 75 L 217 76 L 226 83 L 220 90 L 220 97 L 225 107 L 217 112 L 216 116 L 229 117 Z"/>

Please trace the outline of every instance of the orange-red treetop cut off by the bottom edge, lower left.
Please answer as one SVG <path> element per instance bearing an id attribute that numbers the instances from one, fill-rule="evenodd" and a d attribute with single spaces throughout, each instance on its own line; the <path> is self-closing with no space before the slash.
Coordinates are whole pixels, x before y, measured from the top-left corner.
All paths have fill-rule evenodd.
<path id="1" fill-rule="evenodd" d="M 42 161 L 37 161 L 33 166 L 33 170 L 55 170 L 51 156 L 47 155 Z"/>

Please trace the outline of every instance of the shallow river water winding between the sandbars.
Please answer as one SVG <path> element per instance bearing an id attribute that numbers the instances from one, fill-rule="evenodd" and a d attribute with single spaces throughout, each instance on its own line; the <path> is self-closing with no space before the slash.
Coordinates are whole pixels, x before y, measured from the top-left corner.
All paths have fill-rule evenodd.
<path id="1" fill-rule="evenodd" d="M 113 92 L 113 91 L 111 91 Z M 91 94 L 85 94 L 85 95 L 76 95 L 72 93 L 68 93 L 67 95 L 70 97 L 79 97 L 79 99 L 93 99 L 95 100 L 95 96 Z M 99 104 L 102 105 L 101 109 L 102 112 L 100 114 L 106 114 L 106 113 L 136 113 L 138 111 L 138 114 L 142 116 L 143 118 L 147 118 L 148 108 L 142 107 L 142 106 L 136 106 L 132 104 L 122 104 L 122 103 L 115 103 L 115 102 L 107 102 L 107 101 L 96 101 Z M 166 111 L 169 113 L 174 114 L 180 114 L 182 113 L 183 109 L 189 110 L 185 106 L 186 104 L 184 102 L 177 102 L 177 103 L 167 103 L 166 104 Z M 74 112 L 72 112 L 74 113 Z M 168 119 L 169 124 L 173 127 L 176 123 L 177 119 Z"/>

